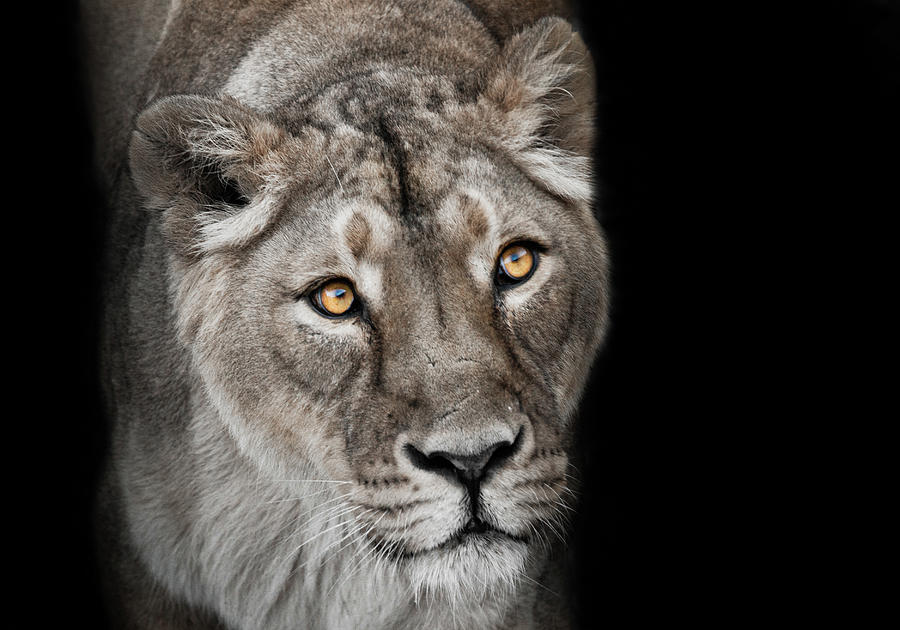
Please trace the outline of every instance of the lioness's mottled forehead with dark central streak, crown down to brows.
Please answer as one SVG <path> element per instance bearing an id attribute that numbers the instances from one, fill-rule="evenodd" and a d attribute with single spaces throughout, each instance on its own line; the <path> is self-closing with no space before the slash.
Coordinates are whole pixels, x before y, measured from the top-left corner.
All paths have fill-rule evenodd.
<path id="1" fill-rule="evenodd" d="M 377 71 L 271 109 L 295 136 L 316 138 L 306 166 L 316 175 L 301 174 L 306 184 L 285 217 L 289 240 L 310 245 L 296 253 L 323 244 L 356 258 L 381 250 L 396 257 L 401 245 L 497 247 L 523 237 L 552 244 L 558 229 L 544 226 L 558 228 L 563 204 L 457 122 L 467 98 L 441 77 Z"/>

